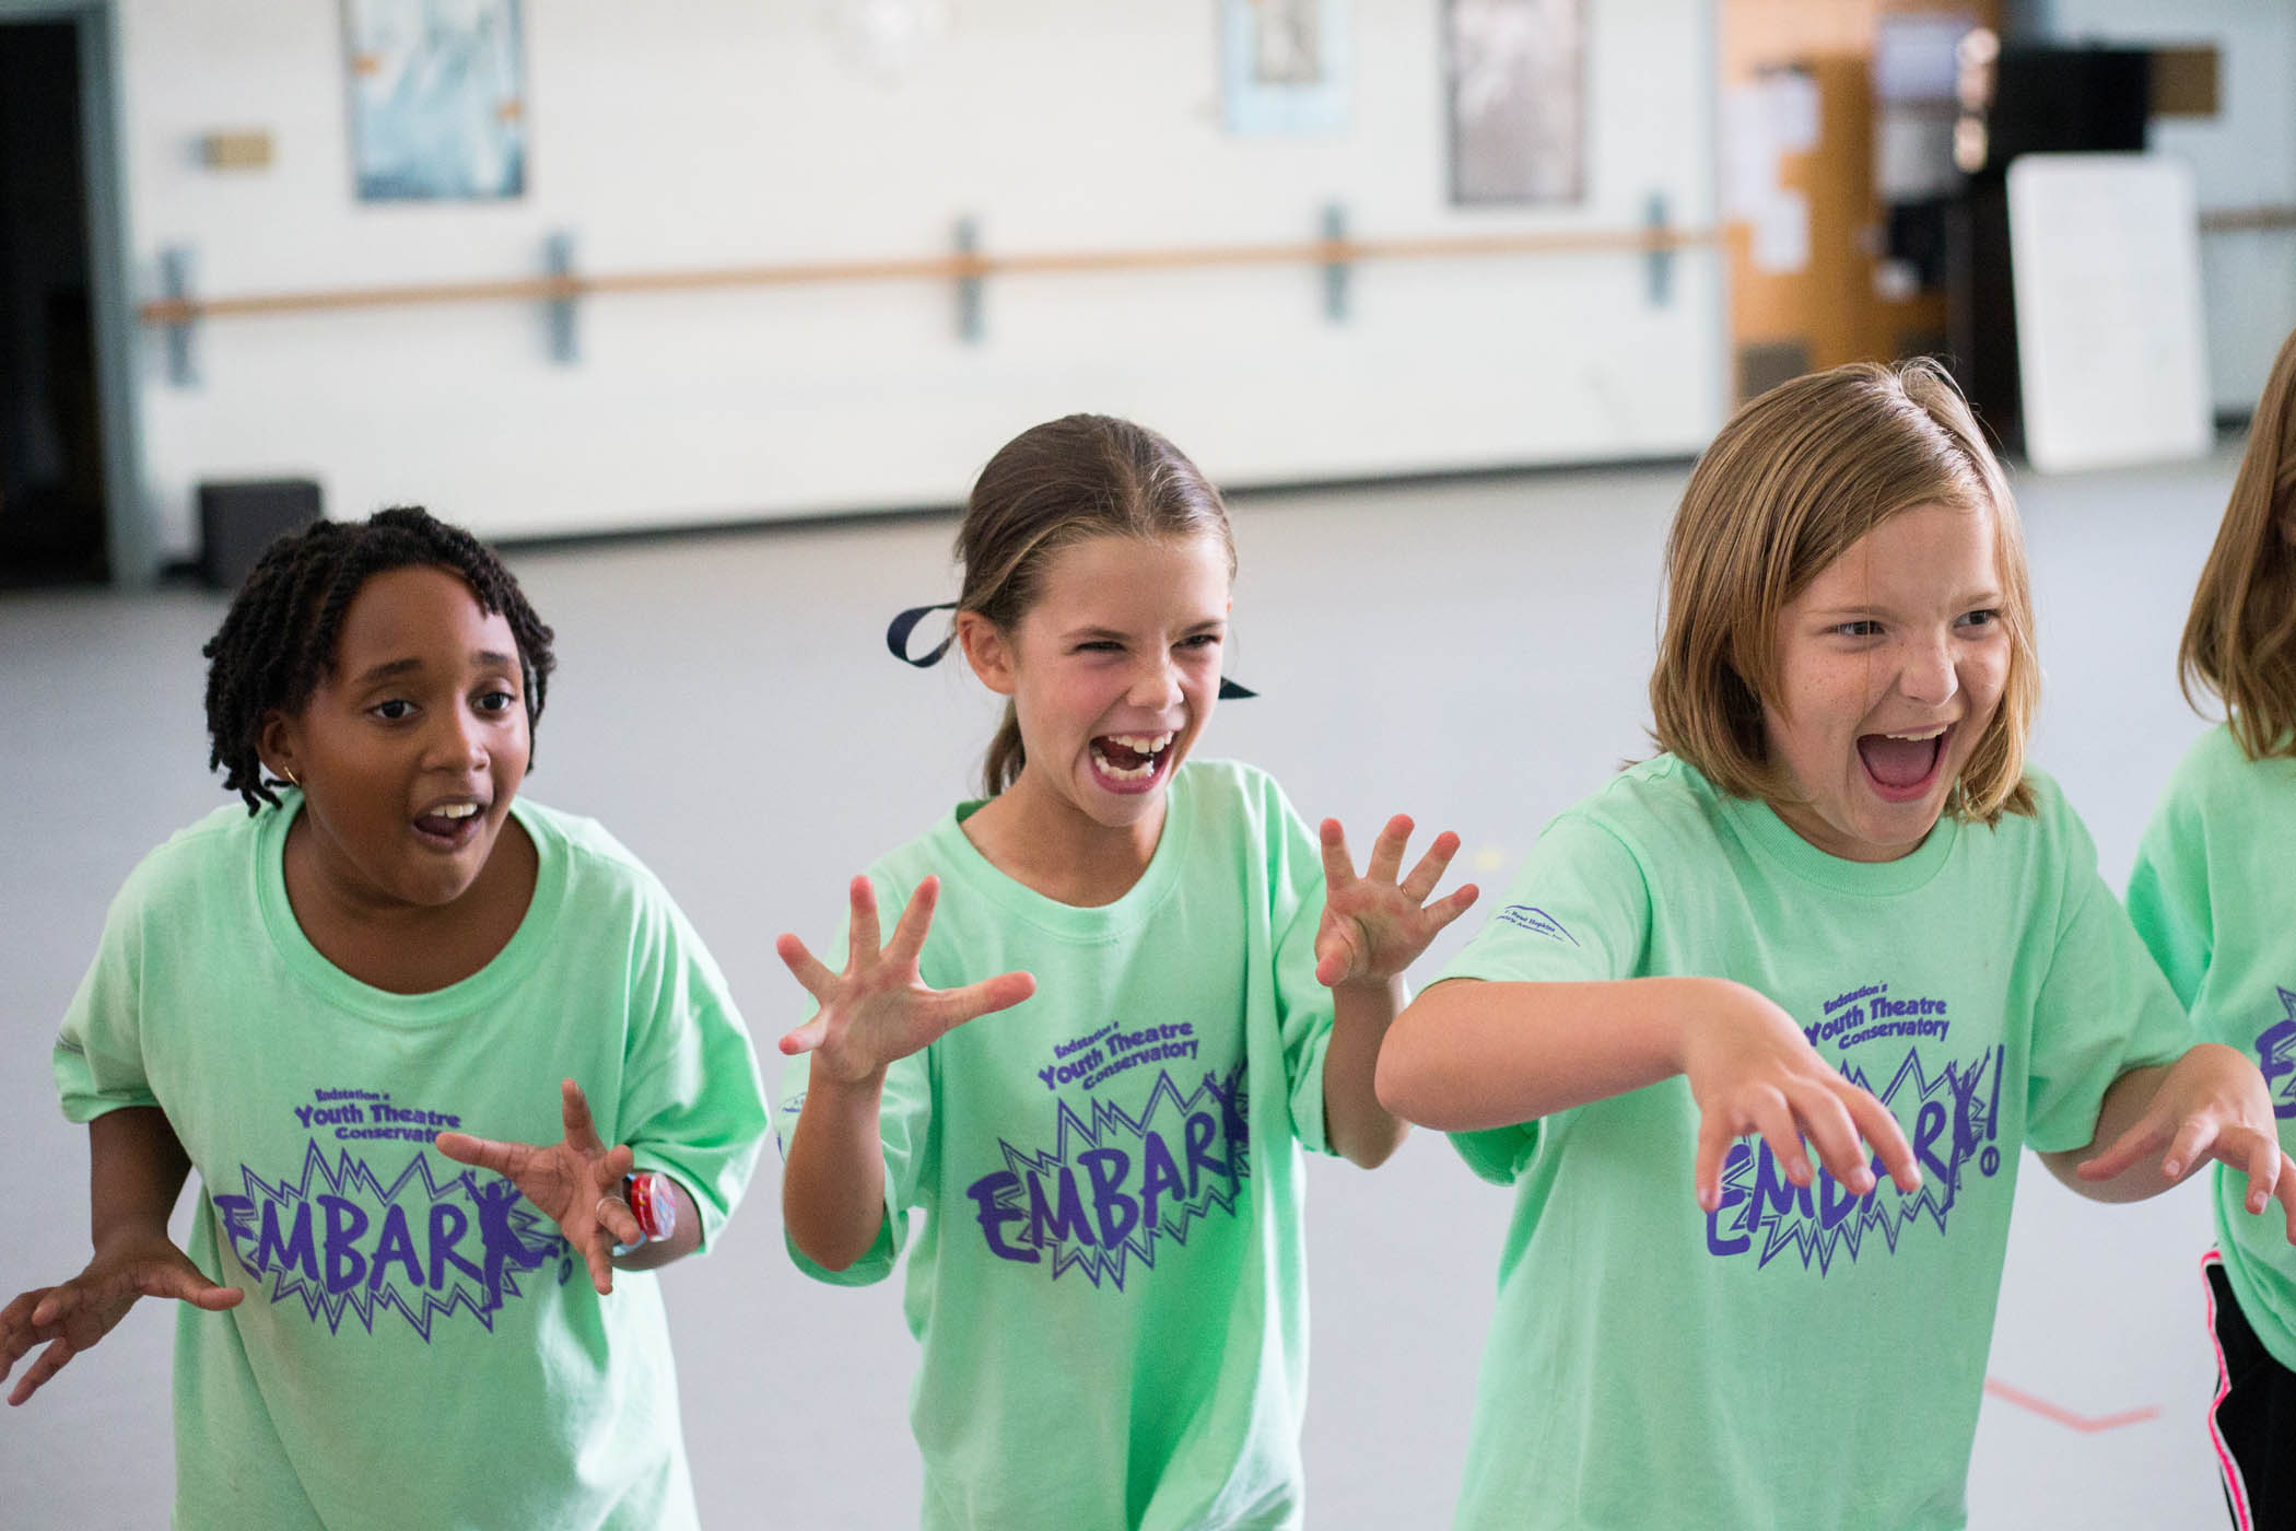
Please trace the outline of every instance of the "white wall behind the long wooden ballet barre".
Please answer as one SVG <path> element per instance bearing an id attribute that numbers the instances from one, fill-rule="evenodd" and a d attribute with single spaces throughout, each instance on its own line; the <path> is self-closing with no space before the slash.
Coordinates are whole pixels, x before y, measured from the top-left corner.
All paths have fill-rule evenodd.
<path id="1" fill-rule="evenodd" d="M 1589 5 L 1589 200 L 1446 207 L 1440 7 L 1355 0 L 1345 131 L 1235 138 L 1208 2 L 964 0 L 898 80 L 820 5 L 528 0 L 528 195 L 351 197 L 340 11 L 119 0 L 129 218 L 145 296 L 165 246 L 207 294 L 528 275 L 551 230 L 588 271 L 990 250 L 1626 227 L 1651 193 L 1713 216 L 1711 0 Z M 191 142 L 259 126 L 264 172 Z M 218 319 L 197 388 L 140 344 L 161 546 L 200 480 L 315 473 L 333 514 L 422 500 L 487 535 L 953 503 L 1017 429 L 1132 413 L 1217 480 L 1283 482 L 1704 445 L 1722 406 L 1708 252 L 1653 308 L 1639 257 L 1371 264 L 1355 317 L 1313 269 L 990 282 L 962 344 L 944 285 L 602 296 L 574 367 L 540 308 Z"/>

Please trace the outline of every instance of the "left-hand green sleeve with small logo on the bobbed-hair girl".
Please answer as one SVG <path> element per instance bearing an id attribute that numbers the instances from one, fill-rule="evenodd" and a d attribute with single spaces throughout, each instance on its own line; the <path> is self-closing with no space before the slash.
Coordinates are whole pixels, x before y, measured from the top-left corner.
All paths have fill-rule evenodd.
<path id="1" fill-rule="evenodd" d="M 1642 863 L 1612 831 L 1575 813 L 1548 824 L 1506 902 L 1444 966 L 1440 982 L 1593 982 L 1635 978 L 1651 934 Z M 1453 1132 L 1483 1180 L 1513 1184 L 1538 1148 L 1538 1122 Z"/>

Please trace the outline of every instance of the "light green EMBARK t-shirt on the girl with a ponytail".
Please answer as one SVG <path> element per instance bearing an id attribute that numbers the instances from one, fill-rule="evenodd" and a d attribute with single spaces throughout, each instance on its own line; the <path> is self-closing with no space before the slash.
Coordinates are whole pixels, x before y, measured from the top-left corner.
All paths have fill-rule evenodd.
<path id="1" fill-rule="evenodd" d="M 1148 870 L 1100 909 L 990 865 L 960 829 L 978 803 L 870 868 L 889 927 L 941 877 L 928 985 L 1038 982 L 889 1070 L 877 1249 L 843 1274 L 790 1249 L 863 1283 L 909 1246 L 925 1526 L 1300 1524 L 1322 861 L 1261 771 L 1185 764 L 1169 792 Z M 783 1143 L 804 1095 L 797 1058 Z"/>

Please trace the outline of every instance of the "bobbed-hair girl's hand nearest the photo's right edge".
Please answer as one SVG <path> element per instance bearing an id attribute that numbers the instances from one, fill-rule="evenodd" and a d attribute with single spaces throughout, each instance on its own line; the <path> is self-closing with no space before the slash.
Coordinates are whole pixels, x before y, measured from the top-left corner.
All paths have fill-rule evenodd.
<path id="1" fill-rule="evenodd" d="M 2181 1180 L 2206 1159 L 2248 1175 L 2248 1212 L 2262 1214 L 2278 1200 L 2289 1244 L 2296 1244 L 2296 1164 L 2280 1150 L 2264 1074 L 2239 1051 L 2216 1042 L 2188 1049 L 2161 1079 L 2144 1116 L 2082 1159 L 2076 1173 L 2112 1180 L 2154 1155 L 2167 1180 Z"/>

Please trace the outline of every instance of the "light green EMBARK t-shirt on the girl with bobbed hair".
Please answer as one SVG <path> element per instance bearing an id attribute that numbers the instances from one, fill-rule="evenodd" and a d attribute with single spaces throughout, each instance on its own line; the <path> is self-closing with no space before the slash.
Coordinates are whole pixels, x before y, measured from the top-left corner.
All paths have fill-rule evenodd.
<path id="1" fill-rule="evenodd" d="M 1515 1184 L 1460 1526 L 1961 1526 L 2018 1145 L 2080 1148 L 2186 1019 L 2055 783 L 1853 863 L 1660 755 L 1557 817 L 1444 978 L 1733 978 L 1896 1116 L 1917 1196 L 1692 1196 L 1685 1079 L 1460 1134 Z M 1876 1168 L 1878 1173 L 1878 1168 Z"/>

